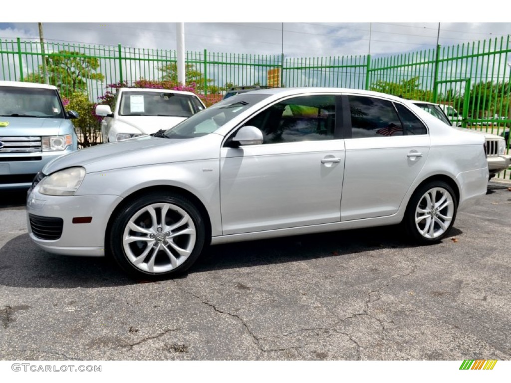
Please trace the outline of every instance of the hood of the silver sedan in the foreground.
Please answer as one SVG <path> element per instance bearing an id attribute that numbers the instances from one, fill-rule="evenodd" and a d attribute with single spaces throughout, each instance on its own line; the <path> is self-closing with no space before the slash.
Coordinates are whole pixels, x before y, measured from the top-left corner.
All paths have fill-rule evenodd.
<path id="1" fill-rule="evenodd" d="M 87 173 L 156 163 L 218 158 L 222 136 L 208 134 L 186 139 L 141 136 L 102 143 L 55 158 L 43 168 L 44 174 L 72 166 L 83 166 Z"/>

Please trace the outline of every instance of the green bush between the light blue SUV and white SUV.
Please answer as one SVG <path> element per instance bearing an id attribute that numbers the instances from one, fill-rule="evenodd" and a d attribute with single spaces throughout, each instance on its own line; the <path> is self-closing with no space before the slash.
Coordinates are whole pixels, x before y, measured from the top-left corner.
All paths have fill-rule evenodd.
<path id="1" fill-rule="evenodd" d="M 67 109 L 74 110 L 80 115 L 73 120 L 78 135 L 78 145 L 85 148 L 100 143 L 101 122 L 96 117 L 96 104 L 91 103 L 86 93 L 71 94 Z"/>

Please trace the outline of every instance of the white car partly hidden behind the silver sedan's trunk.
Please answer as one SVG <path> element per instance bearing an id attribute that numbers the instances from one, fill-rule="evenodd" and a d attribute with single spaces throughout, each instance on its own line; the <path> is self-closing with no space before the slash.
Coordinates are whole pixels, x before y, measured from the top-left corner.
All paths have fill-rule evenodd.
<path id="1" fill-rule="evenodd" d="M 445 113 L 445 106 L 435 103 L 430 103 L 426 101 L 412 101 L 413 104 L 418 107 L 426 110 L 430 114 L 434 115 L 436 118 L 440 119 L 447 125 L 456 126 L 455 123 L 452 123 L 450 119 L 447 117 Z M 449 108 L 453 109 L 449 106 Z M 456 110 L 453 109 L 455 112 Z M 457 112 L 456 112 L 457 114 Z M 460 120 L 459 120 L 460 121 Z M 492 133 L 481 132 L 479 130 L 465 129 L 465 128 L 457 128 L 464 131 L 470 131 L 484 136 L 486 140 L 486 156 L 488 161 L 488 170 L 490 171 L 490 178 L 493 178 L 511 165 L 511 155 L 505 154 L 506 150 L 506 140 L 503 136 L 498 136 Z"/>

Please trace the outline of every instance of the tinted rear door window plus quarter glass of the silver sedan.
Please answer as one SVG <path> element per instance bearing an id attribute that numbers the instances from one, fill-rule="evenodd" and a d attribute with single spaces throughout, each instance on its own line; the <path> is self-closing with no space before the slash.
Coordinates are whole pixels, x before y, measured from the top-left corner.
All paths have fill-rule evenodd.
<path id="1" fill-rule="evenodd" d="M 427 134 L 426 126 L 405 106 L 374 97 L 349 96 L 352 138 Z"/>

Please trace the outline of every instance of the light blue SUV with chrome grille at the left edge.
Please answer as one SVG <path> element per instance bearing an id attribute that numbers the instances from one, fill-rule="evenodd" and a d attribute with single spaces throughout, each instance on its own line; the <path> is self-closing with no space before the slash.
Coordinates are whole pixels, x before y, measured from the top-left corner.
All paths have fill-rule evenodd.
<path id="1" fill-rule="evenodd" d="M 0 190 L 29 188 L 53 158 L 78 149 L 55 86 L 0 81 Z"/>

